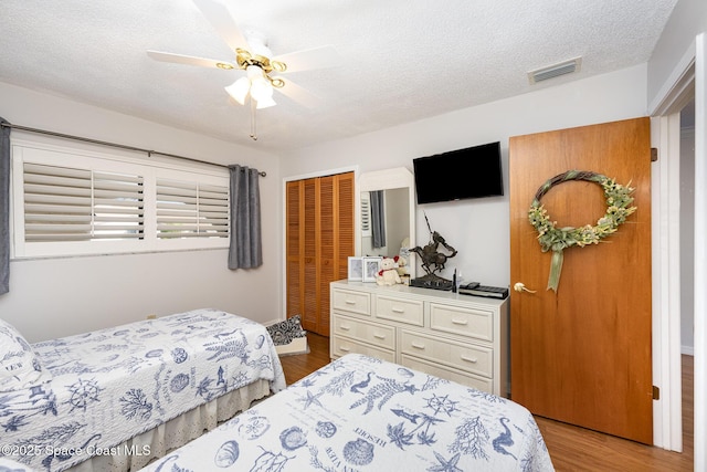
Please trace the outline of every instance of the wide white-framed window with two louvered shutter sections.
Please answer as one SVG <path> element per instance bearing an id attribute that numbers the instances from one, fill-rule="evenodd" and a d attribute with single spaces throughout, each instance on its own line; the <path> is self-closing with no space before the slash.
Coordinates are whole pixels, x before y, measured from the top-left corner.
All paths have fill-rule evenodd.
<path id="1" fill-rule="evenodd" d="M 13 141 L 14 256 L 228 248 L 229 174 Z"/>

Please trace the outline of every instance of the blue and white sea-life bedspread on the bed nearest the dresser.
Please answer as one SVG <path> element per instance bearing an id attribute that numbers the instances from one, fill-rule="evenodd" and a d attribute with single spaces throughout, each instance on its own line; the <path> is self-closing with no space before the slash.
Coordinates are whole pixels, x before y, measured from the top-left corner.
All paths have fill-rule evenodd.
<path id="1" fill-rule="evenodd" d="M 150 464 L 152 472 L 552 471 L 510 400 L 349 354 Z"/>

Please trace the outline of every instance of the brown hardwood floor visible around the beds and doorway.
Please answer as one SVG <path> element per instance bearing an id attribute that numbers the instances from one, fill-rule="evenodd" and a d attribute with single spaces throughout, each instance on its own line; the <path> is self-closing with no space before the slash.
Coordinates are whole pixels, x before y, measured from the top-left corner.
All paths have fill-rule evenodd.
<path id="1" fill-rule="evenodd" d="M 281 358 L 287 385 L 329 363 L 329 338 L 308 333 L 309 354 Z M 536 421 L 562 471 L 692 471 L 693 470 L 693 357 L 683 356 L 683 452 L 640 444 L 546 418 Z"/>

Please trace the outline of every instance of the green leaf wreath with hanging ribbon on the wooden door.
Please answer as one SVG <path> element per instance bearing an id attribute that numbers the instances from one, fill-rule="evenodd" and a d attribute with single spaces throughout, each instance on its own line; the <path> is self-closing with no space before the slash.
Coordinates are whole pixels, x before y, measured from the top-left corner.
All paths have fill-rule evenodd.
<path id="1" fill-rule="evenodd" d="M 542 203 L 540 203 L 540 199 L 556 185 L 569 180 L 585 180 L 599 183 L 604 190 L 606 213 L 597 221 L 597 225 L 557 228 L 557 221 L 550 221 L 550 217 Z M 631 206 L 633 203 L 631 193 L 634 190 L 629 186 L 616 183 L 606 176 L 587 170 L 568 170 L 552 177 L 540 186 L 530 204 L 530 210 L 528 210 L 528 219 L 530 224 L 538 231 L 538 241 L 542 252 L 552 251 L 548 290 L 552 289 L 557 292 L 560 273 L 562 272 L 562 251 L 564 249 L 573 245 L 583 248 L 588 244 L 599 244 L 602 239 L 616 232 L 619 225 L 624 223 L 626 218 L 636 211 L 636 207 Z"/>

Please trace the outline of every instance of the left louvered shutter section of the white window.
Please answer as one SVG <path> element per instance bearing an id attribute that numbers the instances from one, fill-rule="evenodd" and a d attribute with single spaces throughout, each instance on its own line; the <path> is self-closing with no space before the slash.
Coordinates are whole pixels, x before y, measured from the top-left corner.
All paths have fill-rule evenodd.
<path id="1" fill-rule="evenodd" d="M 141 239 L 144 178 L 24 162 L 24 240 Z"/>

